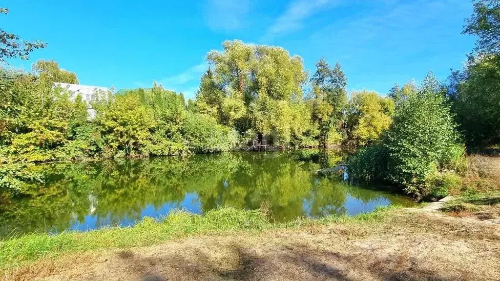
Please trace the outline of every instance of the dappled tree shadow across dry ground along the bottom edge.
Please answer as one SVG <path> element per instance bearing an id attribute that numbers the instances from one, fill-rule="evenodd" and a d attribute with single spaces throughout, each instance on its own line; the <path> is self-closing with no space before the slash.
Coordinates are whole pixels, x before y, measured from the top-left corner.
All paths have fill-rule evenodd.
<path id="1" fill-rule="evenodd" d="M 277 251 L 257 252 L 236 245 L 224 249 L 219 258 L 197 248 L 185 254 L 143 257 L 122 251 L 119 258 L 131 275 L 141 281 L 160 280 L 468 280 L 422 269 L 404 254 L 373 259 L 363 252 L 341 254 L 309 245 L 285 246 Z M 229 257 L 229 259 L 228 259 Z"/>

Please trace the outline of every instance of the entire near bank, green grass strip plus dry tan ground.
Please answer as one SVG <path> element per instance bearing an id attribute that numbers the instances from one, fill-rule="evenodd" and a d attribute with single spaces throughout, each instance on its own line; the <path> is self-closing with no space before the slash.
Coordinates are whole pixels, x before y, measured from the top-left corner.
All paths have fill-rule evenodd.
<path id="1" fill-rule="evenodd" d="M 493 206 L 500 209 L 498 204 Z M 263 209 L 220 208 L 205 216 L 176 212 L 162 222 L 146 219 L 134 227 L 31 234 L 0 242 L 0 267 L 3 280 L 137 280 L 151 275 L 161 277 L 158 280 L 334 279 L 329 271 L 317 274 L 317 265 L 309 261 L 295 262 L 295 258 L 319 258 L 319 264 L 325 264 L 321 268 L 341 267 L 345 280 L 392 275 L 408 280 L 494 280 L 500 276 L 498 268 L 489 266 L 500 262 L 494 254 L 500 252 L 500 222 L 466 213 L 392 206 L 352 217 L 302 218 L 280 224 L 268 222 L 265 215 Z M 8 251 L 9 247 L 15 251 Z M 466 254 L 464 248 L 468 248 Z M 291 256 L 296 257 L 289 260 Z M 266 261 L 259 262 L 261 258 Z M 471 266 L 469 258 L 481 262 Z M 220 273 L 226 269 L 240 271 Z M 252 273 L 258 278 L 252 278 Z"/>

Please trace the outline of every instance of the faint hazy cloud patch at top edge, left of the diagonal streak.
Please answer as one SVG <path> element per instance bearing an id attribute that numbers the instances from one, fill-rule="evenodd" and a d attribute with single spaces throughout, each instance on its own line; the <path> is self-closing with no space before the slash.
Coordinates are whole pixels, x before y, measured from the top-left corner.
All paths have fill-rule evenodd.
<path id="1" fill-rule="evenodd" d="M 233 31 L 241 27 L 249 9 L 249 0 L 208 0 L 205 21 L 212 30 Z"/>

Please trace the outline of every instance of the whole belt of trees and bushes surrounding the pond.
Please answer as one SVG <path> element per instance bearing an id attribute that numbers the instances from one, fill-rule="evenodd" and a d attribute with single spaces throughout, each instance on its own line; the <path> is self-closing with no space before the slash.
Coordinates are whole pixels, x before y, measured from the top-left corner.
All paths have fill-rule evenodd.
<path id="1" fill-rule="evenodd" d="M 222 51 L 208 52 L 209 67 L 187 104 L 157 84 L 123 95 L 100 92 L 91 121 L 80 96 L 52 86 L 78 82 L 55 61 L 38 61 L 33 74 L 2 69 L 0 152 L 7 176 L 0 185 L 38 178 L 21 172 L 19 162 L 216 152 L 265 142 L 359 148 L 349 158 L 355 178 L 388 181 L 417 196 L 442 194 L 452 176 L 445 171 L 463 168 L 463 143 L 472 150 L 500 142 L 499 28 L 500 1 L 474 1 L 463 33 L 478 40 L 463 69 L 447 83 L 429 73 L 418 86 L 395 84 L 387 96 L 347 93 L 338 62 L 320 59 L 309 77 L 302 58 L 284 48 L 224 41 Z M 12 48 L 27 55 L 33 47 L 6 42 L 2 60 L 15 56 Z"/>

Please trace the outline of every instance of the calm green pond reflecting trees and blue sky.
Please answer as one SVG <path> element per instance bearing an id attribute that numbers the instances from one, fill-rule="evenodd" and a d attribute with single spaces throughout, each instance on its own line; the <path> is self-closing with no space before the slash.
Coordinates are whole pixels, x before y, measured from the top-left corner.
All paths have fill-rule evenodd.
<path id="1" fill-rule="evenodd" d="M 264 201 L 276 221 L 414 204 L 405 196 L 315 173 L 339 159 L 298 150 L 39 165 L 47 181 L 1 203 L 0 236 L 127 226 L 175 208 L 193 213 L 219 205 L 256 209 Z"/>

